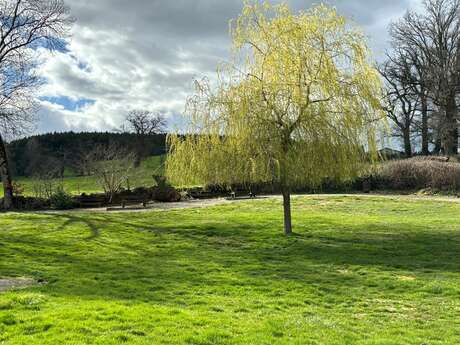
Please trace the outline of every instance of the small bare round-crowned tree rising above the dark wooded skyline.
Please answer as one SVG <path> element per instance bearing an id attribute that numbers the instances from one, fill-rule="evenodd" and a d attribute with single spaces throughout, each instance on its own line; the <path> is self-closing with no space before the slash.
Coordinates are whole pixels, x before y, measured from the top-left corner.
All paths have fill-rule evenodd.
<path id="1" fill-rule="evenodd" d="M 146 136 L 163 133 L 166 129 L 166 119 L 162 114 L 149 110 L 132 110 L 126 117 L 126 123 L 127 129 L 137 136 L 135 165 L 138 166 L 141 159 L 146 156 Z"/>

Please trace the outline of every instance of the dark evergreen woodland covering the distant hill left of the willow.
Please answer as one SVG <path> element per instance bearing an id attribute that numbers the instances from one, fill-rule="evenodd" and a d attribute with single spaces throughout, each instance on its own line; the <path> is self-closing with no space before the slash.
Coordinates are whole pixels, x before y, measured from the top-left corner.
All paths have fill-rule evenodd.
<path id="1" fill-rule="evenodd" d="M 34 176 L 52 170 L 63 175 L 81 171 L 82 159 L 98 146 L 116 146 L 142 156 L 166 152 L 166 134 L 139 136 L 133 133 L 66 132 L 34 135 L 8 144 L 11 168 L 15 176 Z"/>

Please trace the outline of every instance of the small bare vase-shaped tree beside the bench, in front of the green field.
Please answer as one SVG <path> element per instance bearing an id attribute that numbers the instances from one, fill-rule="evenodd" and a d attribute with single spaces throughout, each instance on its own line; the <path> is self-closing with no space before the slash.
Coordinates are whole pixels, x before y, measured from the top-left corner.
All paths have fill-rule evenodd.
<path id="1" fill-rule="evenodd" d="M 98 146 L 90 154 L 91 171 L 109 203 L 129 179 L 135 155 L 115 145 Z"/>

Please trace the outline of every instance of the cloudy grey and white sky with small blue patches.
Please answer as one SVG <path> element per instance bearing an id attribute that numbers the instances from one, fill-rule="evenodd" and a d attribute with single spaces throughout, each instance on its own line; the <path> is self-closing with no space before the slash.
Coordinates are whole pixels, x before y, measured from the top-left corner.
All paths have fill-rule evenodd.
<path id="1" fill-rule="evenodd" d="M 290 0 L 295 10 L 317 1 Z M 180 123 L 196 78 L 229 56 L 229 20 L 242 0 L 67 0 L 76 18 L 68 50 L 41 67 L 36 132 L 112 130 L 129 109 L 163 112 Z M 388 24 L 421 0 L 329 0 L 361 25 L 374 55 L 387 47 Z"/>

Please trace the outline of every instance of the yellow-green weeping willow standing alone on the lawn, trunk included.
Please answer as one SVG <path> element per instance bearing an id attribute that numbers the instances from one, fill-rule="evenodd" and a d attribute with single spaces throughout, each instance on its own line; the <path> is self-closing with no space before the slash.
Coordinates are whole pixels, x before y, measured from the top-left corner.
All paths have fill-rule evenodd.
<path id="1" fill-rule="evenodd" d="M 197 82 L 186 135 L 168 137 L 176 184 L 275 182 L 292 233 L 298 185 L 344 180 L 375 158 L 381 81 L 363 34 L 324 5 L 246 3 L 232 22 L 234 60 L 218 85 Z"/>

